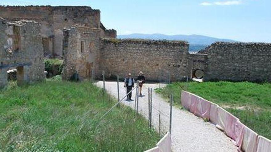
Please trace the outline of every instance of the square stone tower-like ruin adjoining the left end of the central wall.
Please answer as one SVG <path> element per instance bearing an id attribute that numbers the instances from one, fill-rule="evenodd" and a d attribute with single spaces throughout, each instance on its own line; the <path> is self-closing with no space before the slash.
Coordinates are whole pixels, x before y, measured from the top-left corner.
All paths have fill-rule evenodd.
<path id="1" fill-rule="evenodd" d="M 100 30 L 83 26 L 64 29 L 63 80 L 70 80 L 75 73 L 80 79 L 95 78 L 99 68 Z"/>

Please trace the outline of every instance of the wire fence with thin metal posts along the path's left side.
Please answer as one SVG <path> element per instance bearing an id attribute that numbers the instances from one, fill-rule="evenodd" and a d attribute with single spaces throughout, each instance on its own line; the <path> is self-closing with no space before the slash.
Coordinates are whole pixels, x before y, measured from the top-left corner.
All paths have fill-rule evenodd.
<path id="1" fill-rule="evenodd" d="M 105 83 L 105 72 L 103 72 L 102 74 L 103 76 L 103 90 L 105 91 L 107 89 L 106 83 Z M 167 71 L 164 71 L 164 73 L 161 75 L 160 77 L 160 83 L 170 83 L 170 73 Z M 106 115 L 115 107 L 119 106 L 120 103 L 129 106 L 131 108 L 134 109 L 135 114 L 141 114 L 143 115 L 147 120 L 148 120 L 148 127 L 154 128 L 156 129 L 156 131 L 158 131 L 158 133 L 160 134 L 161 137 L 163 137 L 165 134 L 167 134 L 168 132 L 171 132 L 171 121 L 172 121 L 172 102 L 173 102 L 173 98 L 171 97 L 171 104 L 170 104 L 170 108 L 161 108 L 161 106 L 165 106 L 165 105 L 161 105 L 160 101 L 157 101 L 157 98 L 153 97 L 153 88 L 143 88 L 142 92 L 144 92 L 146 94 L 146 92 L 148 94 L 146 95 L 140 95 L 139 93 L 139 82 L 135 81 L 135 87 L 132 88 L 132 90 L 130 92 L 134 92 L 135 93 L 135 98 L 132 101 L 127 101 L 125 100 L 125 98 L 127 97 L 127 95 L 130 92 L 126 92 L 125 95 L 123 95 L 123 91 L 120 92 L 120 84 L 119 84 L 119 76 L 117 76 L 116 79 L 117 83 L 116 83 L 116 88 L 114 89 L 116 90 L 116 92 L 111 92 L 115 95 L 117 95 L 118 98 L 118 102 L 115 103 L 102 117 L 100 120 L 102 120 L 104 117 L 106 117 Z M 108 88 L 109 89 L 109 88 Z M 123 95 L 122 97 L 120 97 L 121 95 Z M 165 103 L 168 106 L 168 103 Z M 127 108 L 127 107 L 124 107 Z"/>

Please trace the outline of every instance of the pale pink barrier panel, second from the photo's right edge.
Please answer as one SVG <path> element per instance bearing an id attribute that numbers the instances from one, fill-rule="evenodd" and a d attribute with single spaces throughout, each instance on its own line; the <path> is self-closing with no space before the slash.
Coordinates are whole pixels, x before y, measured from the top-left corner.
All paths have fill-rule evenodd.
<path id="1" fill-rule="evenodd" d="M 242 150 L 245 152 L 256 152 L 258 134 L 249 127 L 244 127 L 244 137 L 242 142 Z"/>

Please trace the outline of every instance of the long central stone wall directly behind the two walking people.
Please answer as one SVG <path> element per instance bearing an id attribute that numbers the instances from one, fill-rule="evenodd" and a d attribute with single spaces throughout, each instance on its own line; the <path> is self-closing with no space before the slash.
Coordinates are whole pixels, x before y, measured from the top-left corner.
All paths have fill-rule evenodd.
<path id="1" fill-rule="evenodd" d="M 188 75 L 188 43 L 184 41 L 102 39 L 98 76 L 105 71 L 107 78 L 134 77 L 139 71 L 148 80 L 182 80 Z"/>

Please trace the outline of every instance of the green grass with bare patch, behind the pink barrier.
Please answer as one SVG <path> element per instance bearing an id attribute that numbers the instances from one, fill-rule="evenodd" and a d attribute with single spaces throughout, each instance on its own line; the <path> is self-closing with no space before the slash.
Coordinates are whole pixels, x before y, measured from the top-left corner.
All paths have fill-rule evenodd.
<path id="1" fill-rule="evenodd" d="M 217 103 L 258 134 L 271 139 L 271 84 L 250 82 L 189 82 L 173 83 L 156 92 L 173 95 L 180 106 L 180 92 L 186 90 Z"/>

